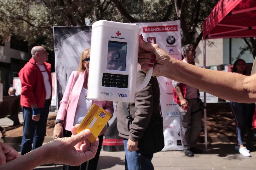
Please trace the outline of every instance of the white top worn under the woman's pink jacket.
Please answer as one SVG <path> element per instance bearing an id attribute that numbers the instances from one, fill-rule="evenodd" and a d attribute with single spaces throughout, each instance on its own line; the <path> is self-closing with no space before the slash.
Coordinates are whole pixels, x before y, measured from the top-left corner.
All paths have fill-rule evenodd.
<path id="1" fill-rule="evenodd" d="M 77 102 L 77 110 L 75 114 L 75 119 L 74 119 L 74 125 L 80 124 L 86 116 L 87 112 L 90 110 L 92 106 L 92 100 L 89 100 L 86 98 L 87 96 L 87 89 L 82 87 L 78 102 Z"/>

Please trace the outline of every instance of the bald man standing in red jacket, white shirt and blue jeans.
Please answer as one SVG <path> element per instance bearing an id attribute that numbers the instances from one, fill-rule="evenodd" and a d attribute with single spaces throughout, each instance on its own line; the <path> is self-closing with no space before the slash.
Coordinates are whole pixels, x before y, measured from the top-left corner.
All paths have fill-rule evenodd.
<path id="1" fill-rule="evenodd" d="M 19 72 L 21 82 L 20 105 L 23 112 L 22 155 L 42 146 L 51 102 L 51 64 L 48 53 L 41 46 L 31 49 L 31 59 Z"/>

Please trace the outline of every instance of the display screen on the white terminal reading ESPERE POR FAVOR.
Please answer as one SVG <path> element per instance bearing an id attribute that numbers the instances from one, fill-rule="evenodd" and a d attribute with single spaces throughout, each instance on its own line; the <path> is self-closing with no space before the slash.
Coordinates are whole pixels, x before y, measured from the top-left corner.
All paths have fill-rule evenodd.
<path id="1" fill-rule="evenodd" d="M 108 70 L 125 71 L 127 43 L 109 41 L 108 44 Z"/>

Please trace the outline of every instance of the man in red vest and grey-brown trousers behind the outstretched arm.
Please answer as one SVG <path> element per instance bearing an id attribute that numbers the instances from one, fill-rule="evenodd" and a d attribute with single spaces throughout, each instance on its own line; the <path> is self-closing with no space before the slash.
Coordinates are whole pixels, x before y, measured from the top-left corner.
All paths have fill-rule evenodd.
<path id="1" fill-rule="evenodd" d="M 183 62 L 195 65 L 195 54 L 196 51 L 192 45 L 187 44 L 182 47 Z M 202 152 L 195 147 L 202 121 L 202 111 L 198 100 L 199 90 L 176 81 L 173 81 L 173 88 L 174 101 L 179 104 L 183 151 L 187 156 L 194 156 L 194 153 Z"/>

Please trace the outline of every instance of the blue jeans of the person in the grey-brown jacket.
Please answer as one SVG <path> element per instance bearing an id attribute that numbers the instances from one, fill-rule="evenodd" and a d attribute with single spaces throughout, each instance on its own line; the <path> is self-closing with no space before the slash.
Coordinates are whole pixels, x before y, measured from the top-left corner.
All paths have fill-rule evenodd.
<path id="1" fill-rule="evenodd" d="M 154 170 L 151 163 L 153 154 L 143 155 L 139 150 L 130 152 L 127 150 L 127 141 L 124 139 L 125 170 Z"/>

